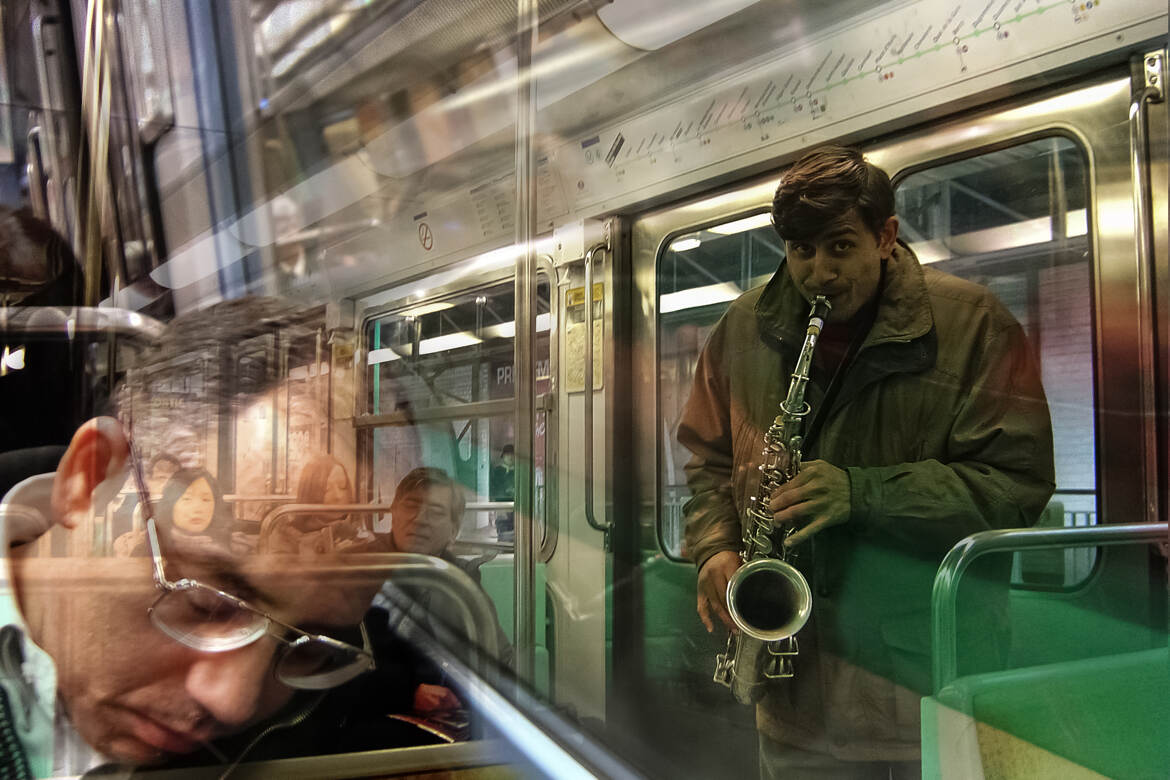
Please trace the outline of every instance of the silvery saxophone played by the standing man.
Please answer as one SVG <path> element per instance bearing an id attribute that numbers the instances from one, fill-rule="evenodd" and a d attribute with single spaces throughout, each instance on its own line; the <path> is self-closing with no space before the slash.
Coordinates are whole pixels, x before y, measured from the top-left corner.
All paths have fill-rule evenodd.
<path id="1" fill-rule="evenodd" d="M 759 700 L 768 681 L 793 676 L 792 660 L 800 651 L 796 634 L 812 613 L 808 582 L 785 561 L 783 546 L 773 552 L 768 503 L 772 492 L 800 470 L 804 419 L 810 410 L 805 387 L 812 353 L 831 309 L 823 295 L 813 301 L 787 398 L 764 434 L 759 489 L 748 505 L 744 524 L 744 548 L 739 553 L 743 565 L 728 580 L 728 612 L 739 633 L 729 635 L 727 649 L 715 656 L 714 679 L 731 689 L 741 704 Z M 785 537 L 792 531 L 789 529 Z"/>

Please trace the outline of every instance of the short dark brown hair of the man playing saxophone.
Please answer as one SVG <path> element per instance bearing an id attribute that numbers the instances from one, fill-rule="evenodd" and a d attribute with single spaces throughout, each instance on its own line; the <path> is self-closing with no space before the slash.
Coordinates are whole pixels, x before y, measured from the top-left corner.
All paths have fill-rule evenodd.
<path id="1" fill-rule="evenodd" d="M 894 215 L 889 175 L 854 149 L 821 146 L 780 177 L 772 223 L 785 241 L 811 239 L 851 210 L 879 236 Z"/>

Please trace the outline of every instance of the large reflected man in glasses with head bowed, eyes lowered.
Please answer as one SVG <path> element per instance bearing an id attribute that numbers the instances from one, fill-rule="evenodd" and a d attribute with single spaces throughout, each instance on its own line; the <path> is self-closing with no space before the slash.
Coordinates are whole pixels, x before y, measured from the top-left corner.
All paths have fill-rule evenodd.
<path id="1" fill-rule="evenodd" d="M 174 366 L 183 363 L 178 357 L 205 351 L 230 354 L 242 334 L 277 324 L 278 305 L 236 301 L 179 318 L 151 365 Z M 347 750 L 338 729 L 344 716 L 330 709 L 338 695 L 322 697 L 380 665 L 363 616 L 385 571 L 352 547 L 344 554 L 238 554 L 226 543 L 160 532 L 143 476 L 143 457 L 159 455 L 147 451 L 150 444 L 165 441 L 151 417 L 213 414 L 223 427 L 233 424 L 228 408 L 235 419 L 256 403 L 271 408 L 263 386 L 269 372 L 229 377 L 235 360 L 201 365 L 219 372 L 204 377 L 206 398 L 160 405 L 152 398 L 157 385 L 137 395 L 123 389 L 117 416 L 82 424 L 55 475 L 27 479 L 5 497 L 2 776 L 173 762 L 177 754 L 216 764 L 263 758 L 282 733 L 294 740 L 296 732 L 283 727 L 323 712 L 333 730 L 302 732 L 297 747 Z M 222 453 L 207 460 L 221 470 L 229 464 Z M 97 532 L 104 518 L 95 518 L 95 506 L 128 476 L 147 538 L 146 554 L 130 558 L 112 554 Z M 387 674 L 392 679 L 394 670 L 376 676 L 385 681 Z M 404 709 L 412 690 L 404 681 L 394 693 Z M 393 705 L 385 690 L 379 696 Z"/>

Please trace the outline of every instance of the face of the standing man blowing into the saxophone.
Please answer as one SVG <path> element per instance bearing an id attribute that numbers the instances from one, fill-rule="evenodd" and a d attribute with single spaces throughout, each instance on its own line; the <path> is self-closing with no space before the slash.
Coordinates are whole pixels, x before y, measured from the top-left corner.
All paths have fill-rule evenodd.
<path id="1" fill-rule="evenodd" d="M 784 242 L 789 274 L 810 303 L 828 296 L 830 322 L 848 322 L 878 294 L 881 258 L 896 240 L 897 218 L 889 218 L 875 236 L 851 210 L 811 239 Z"/>

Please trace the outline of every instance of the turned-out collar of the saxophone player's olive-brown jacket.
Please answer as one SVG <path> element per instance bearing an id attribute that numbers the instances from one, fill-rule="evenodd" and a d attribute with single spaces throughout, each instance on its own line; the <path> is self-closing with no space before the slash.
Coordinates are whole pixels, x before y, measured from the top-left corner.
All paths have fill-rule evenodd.
<path id="1" fill-rule="evenodd" d="M 784 344 L 799 345 L 804 340 L 808 303 L 789 275 L 786 263 L 780 263 L 756 302 L 756 317 L 759 319 L 760 332 L 769 333 Z M 862 348 L 918 339 L 929 333 L 934 325 L 935 317 L 922 265 L 914 250 L 899 240 L 886 264 L 886 284 L 878 301 L 874 324 Z"/>

